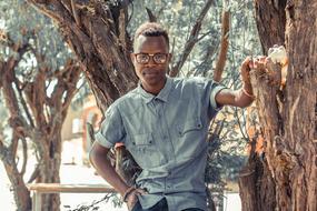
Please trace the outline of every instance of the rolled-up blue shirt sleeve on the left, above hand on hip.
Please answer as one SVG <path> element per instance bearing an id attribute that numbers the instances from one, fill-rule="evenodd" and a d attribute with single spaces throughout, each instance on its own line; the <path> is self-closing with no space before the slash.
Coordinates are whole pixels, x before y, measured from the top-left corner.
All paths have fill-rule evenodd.
<path id="1" fill-rule="evenodd" d="M 117 142 L 122 142 L 126 137 L 122 119 L 118 108 L 109 107 L 106 118 L 97 132 L 96 141 L 106 148 L 112 148 Z"/>

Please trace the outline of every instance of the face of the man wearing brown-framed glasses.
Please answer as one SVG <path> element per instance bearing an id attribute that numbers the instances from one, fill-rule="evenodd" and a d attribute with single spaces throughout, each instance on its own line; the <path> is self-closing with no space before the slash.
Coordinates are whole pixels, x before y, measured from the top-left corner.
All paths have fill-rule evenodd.
<path id="1" fill-rule="evenodd" d="M 155 92 L 164 88 L 170 54 L 162 36 L 138 37 L 131 60 L 146 91 Z"/>

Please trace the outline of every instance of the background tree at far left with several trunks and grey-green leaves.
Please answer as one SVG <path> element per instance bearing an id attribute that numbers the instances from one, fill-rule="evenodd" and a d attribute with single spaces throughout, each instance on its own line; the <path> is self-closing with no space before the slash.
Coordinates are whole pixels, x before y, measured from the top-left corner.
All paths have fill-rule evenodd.
<path id="1" fill-rule="evenodd" d="M 61 127 L 81 70 L 49 19 L 21 1 L 1 1 L 0 9 L 4 20 L 0 31 L 0 90 L 7 109 L 1 117 L 8 119 L 1 122 L 0 159 L 18 210 L 29 210 L 26 183 L 60 182 Z M 37 163 L 24 180 L 31 148 Z M 42 200 L 43 210 L 59 210 L 58 195 Z"/>

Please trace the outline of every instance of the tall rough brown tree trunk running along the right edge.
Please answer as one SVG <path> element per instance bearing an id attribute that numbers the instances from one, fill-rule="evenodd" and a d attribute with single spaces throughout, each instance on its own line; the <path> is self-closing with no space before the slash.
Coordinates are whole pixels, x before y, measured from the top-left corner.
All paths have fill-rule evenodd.
<path id="1" fill-rule="evenodd" d="M 277 178 L 280 168 L 285 169 L 278 184 L 284 184 L 284 179 L 289 183 L 285 185 L 285 190 L 278 189 L 277 199 L 279 208 L 286 204 L 289 210 L 317 210 L 317 137 L 314 137 L 317 123 L 316 10 L 317 3 L 313 0 L 289 1 L 286 8 L 289 66 L 285 109 L 281 108 L 280 112 L 283 152 L 277 159 L 284 162 L 286 158 L 287 162 L 273 164 L 273 169 Z M 279 139 L 276 140 L 275 150 L 278 153 Z M 289 201 L 291 203 L 287 203 Z"/>

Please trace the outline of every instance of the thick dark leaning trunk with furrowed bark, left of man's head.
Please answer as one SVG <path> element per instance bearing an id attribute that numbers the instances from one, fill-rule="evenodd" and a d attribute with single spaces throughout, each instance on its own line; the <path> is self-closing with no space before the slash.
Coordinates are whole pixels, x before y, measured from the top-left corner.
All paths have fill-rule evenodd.
<path id="1" fill-rule="evenodd" d="M 52 18 L 77 54 L 101 112 L 120 96 L 137 86 L 130 58 L 132 44 L 127 29 L 130 1 L 117 6 L 93 1 L 71 9 L 70 3 L 51 1 L 44 4 L 29 0 Z M 73 18 L 77 13 L 78 24 Z"/>

